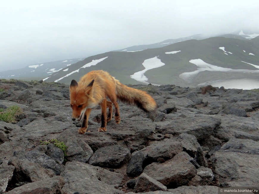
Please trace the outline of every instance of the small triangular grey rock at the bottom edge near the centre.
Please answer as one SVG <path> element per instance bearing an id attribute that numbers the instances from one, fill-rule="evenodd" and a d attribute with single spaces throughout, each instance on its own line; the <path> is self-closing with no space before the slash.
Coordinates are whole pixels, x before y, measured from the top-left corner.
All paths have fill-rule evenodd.
<path id="1" fill-rule="evenodd" d="M 152 177 L 148 176 L 145 173 L 142 173 L 138 177 L 138 180 L 134 188 L 135 193 L 138 193 L 138 192 L 145 193 L 145 192 L 157 191 L 157 190 L 166 191 L 167 188 L 165 185 L 156 181 L 155 179 L 153 179 Z"/>

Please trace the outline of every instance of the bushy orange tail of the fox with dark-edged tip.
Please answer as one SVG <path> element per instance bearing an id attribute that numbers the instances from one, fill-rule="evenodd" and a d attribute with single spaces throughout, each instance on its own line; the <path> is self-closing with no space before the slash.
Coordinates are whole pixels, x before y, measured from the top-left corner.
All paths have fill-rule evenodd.
<path id="1" fill-rule="evenodd" d="M 123 85 L 118 80 L 116 82 L 116 97 L 122 102 L 136 105 L 145 112 L 155 111 L 157 104 L 155 100 L 146 92 Z"/>

